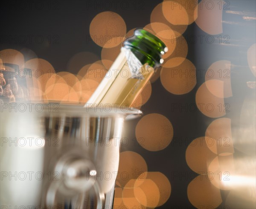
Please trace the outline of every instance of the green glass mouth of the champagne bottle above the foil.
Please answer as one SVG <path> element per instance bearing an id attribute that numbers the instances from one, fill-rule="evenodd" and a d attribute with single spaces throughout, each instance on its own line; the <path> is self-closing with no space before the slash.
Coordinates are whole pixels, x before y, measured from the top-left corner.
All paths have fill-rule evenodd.
<path id="1" fill-rule="evenodd" d="M 162 55 L 168 52 L 163 41 L 141 28 L 125 40 L 124 47 L 130 49 L 142 64 L 148 63 L 152 67 L 160 67 L 163 64 Z"/>

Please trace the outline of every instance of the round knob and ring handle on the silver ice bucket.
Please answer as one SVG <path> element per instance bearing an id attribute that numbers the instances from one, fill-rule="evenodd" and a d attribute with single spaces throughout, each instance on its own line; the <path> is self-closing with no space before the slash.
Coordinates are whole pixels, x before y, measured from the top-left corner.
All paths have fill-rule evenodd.
<path id="1" fill-rule="evenodd" d="M 101 191 L 99 183 L 94 179 L 95 166 L 90 160 L 77 157 L 70 157 L 68 154 L 58 160 L 55 172 L 61 174 L 60 180 L 52 181 L 49 185 L 45 199 L 46 206 L 56 206 L 57 192 L 61 191 L 64 195 L 71 197 L 72 194 L 83 194 L 93 188 L 97 198 L 96 208 L 104 208 L 105 195 Z M 77 203 L 77 209 L 83 208 L 82 200 L 81 203 Z"/>

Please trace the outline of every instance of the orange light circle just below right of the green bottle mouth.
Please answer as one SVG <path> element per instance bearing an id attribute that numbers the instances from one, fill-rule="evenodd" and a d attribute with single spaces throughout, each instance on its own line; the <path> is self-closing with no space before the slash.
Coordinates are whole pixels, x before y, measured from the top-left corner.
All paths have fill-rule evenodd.
<path id="1" fill-rule="evenodd" d="M 163 87 L 170 93 L 189 93 L 196 84 L 195 66 L 191 61 L 185 59 L 185 61 L 177 67 L 163 67 L 160 79 Z"/>

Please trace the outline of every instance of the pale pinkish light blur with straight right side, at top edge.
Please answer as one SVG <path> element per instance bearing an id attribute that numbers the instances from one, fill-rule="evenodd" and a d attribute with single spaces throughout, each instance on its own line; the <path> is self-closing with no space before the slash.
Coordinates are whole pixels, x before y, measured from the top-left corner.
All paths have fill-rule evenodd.
<path id="1" fill-rule="evenodd" d="M 198 3 L 200 9 L 198 9 L 198 18 L 195 20 L 198 27 L 211 35 L 222 33 L 222 8 L 224 3 L 222 0 L 218 4 L 211 0 Z"/>

